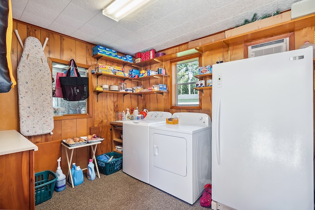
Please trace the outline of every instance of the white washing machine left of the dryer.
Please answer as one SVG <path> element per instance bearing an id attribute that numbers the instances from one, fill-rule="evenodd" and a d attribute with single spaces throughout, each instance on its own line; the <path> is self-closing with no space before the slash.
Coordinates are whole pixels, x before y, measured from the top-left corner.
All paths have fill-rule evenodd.
<path id="1" fill-rule="evenodd" d="M 169 112 L 148 112 L 143 120 L 123 122 L 123 172 L 149 183 L 149 126 L 166 123 Z"/>

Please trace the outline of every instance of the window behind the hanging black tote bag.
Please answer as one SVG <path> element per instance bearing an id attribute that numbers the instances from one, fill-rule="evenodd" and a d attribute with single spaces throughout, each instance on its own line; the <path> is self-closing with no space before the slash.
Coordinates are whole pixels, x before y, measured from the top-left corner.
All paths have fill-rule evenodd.
<path id="1" fill-rule="evenodd" d="M 56 77 L 57 72 L 66 72 L 68 68 L 68 61 L 65 60 L 51 60 L 51 69 L 53 77 L 53 95 L 56 88 Z M 81 77 L 88 77 L 88 66 L 82 67 L 82 64 L 78 64 L 78 71 Z M 72 73 L 72 72 L 71 72 Z M 65 115 L 75 115 L 75 114 L 88 114 L 88 98 L 82 101 L 67 101 L 63 98 L 53 97 L 53 109 L 54 116 L 65 116 Z"/>

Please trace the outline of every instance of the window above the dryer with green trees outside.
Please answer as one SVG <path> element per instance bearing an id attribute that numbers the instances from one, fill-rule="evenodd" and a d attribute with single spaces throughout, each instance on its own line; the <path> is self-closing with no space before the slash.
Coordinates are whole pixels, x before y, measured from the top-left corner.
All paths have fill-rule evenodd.
<path id="1" fill-rule="evenodd" d="M 172 63 L 172 106 L 177 108 L 199 108 L 199 91 L 195 90 L 199 74 L 199 57 Z"/>

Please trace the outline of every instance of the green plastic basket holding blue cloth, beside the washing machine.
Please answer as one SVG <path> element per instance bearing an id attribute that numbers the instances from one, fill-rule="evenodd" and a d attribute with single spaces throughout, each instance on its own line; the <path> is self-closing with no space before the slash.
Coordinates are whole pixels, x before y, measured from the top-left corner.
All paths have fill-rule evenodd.
<path id="1" fill-rule="evenodd" d="M 98 158 L 99 156 L 104 154 L 96 156 L 97 166 L 100 173 L 110 175 L 122 169 L 123 165 L 122 154 L 114 151 L 105 154 L 107 154 L 110 157 L 114 156 L 115 160 L 111 160 L 110 162 L 104 162 Z"/>

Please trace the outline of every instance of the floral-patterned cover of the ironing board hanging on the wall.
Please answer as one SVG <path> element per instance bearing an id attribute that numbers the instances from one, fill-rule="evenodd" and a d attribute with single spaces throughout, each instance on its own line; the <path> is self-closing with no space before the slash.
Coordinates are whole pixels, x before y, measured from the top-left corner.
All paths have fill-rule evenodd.
<path id="1" fill-rule="evenodd" d="M 51 71 L 40 41 L 26 38 L 17 69 L 20 132 L 24 136 L 54 129 Z"/>

